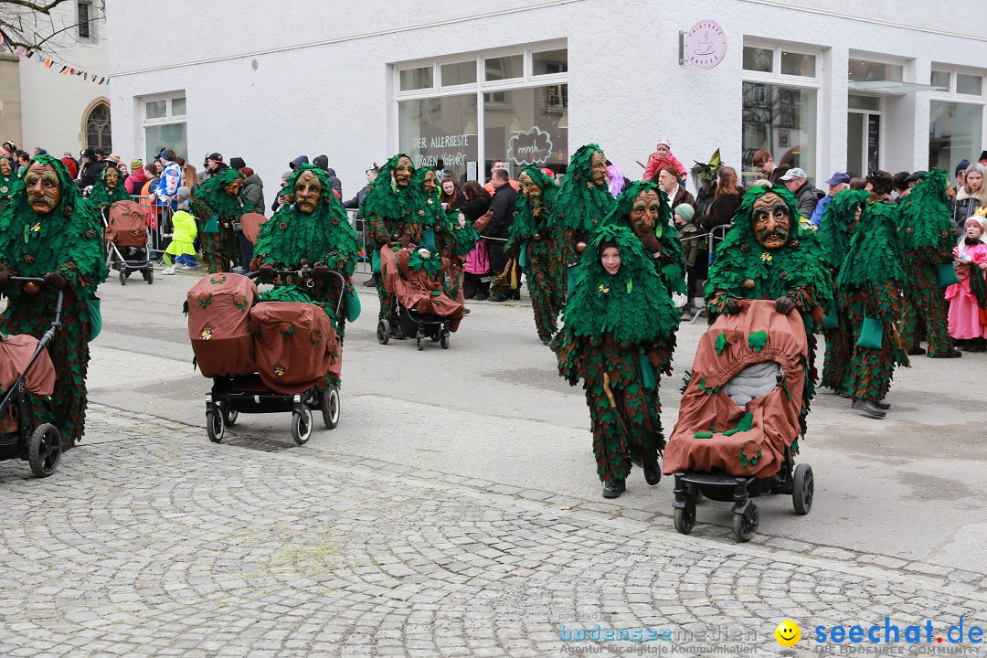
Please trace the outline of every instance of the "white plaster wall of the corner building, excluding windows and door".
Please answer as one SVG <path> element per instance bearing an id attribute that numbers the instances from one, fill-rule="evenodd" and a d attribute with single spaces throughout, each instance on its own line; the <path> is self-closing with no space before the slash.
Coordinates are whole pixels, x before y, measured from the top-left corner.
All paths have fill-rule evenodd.
<path id="1" fill-rule="evenodd" d="M 987 61 L 987 37 L 971 28 L 987 10 L 959 0 L 878 0 L 832 8 L 822 0 L 479 0 L 411 15 L 382 0 L 310 3 L 297 19 L 276 3 L 241 3 L 240 18 L 221 3 L 179 1 L 194 14 L 184 43 L 163 59 L 130 53 L 159 36 L 139 5 L 109 0 L 110 68 L 114 74 L 114 146 L 141 148 L 141 96 L 186 90 L 189 149 L 243 157 L 270 194 L 289 160 L 326 153 L 354 193 L 372 161 L 397 147 L 389 64 L 550 39 L 568 39 L 569 151 L 595 141 L 630 178 L 640 177 L 659 136 L 687 165 L 720 148 L 723 162 L 741 159 L 744 37 L 818 46 L 822 88 L 817 137 L 819 172 L 846 167 L 847 81 L 851 49 L 910 60 L 913 80 L 929 82 L 931 62 Z M 987 19 L 987 16 L 980 16 Z M 678 34 L 712 19 L 726 31 L 719 66 L 678 64 Z M 930 26 L 935 26 L 932 28 Z M 314 45 L 312 45 L 314 44 Z M 898 128 L 887 137 L 888 169 L 919 169 L 927 157 L 928 92 L 894 104 Z M 901 106 L 901 107 L 899 107 Z M 904 125 L 907 123 L 907 125 Z M 902 127 L 903 126 L 903 127 Z M 822 179 L 824 180 L 824 179 Z"/>

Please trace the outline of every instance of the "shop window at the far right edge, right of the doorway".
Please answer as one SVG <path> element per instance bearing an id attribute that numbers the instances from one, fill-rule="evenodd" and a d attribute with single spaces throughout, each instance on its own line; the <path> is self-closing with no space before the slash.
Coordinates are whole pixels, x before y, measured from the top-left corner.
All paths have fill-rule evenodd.
<path id="1" fill-rule="evenodd" d="M 983 148 L 984 74 L 934 68 L 931 83 L 941 90 L 929 107 L 929 167 L 952 172 L 964 158 L 976 161 Z"/>

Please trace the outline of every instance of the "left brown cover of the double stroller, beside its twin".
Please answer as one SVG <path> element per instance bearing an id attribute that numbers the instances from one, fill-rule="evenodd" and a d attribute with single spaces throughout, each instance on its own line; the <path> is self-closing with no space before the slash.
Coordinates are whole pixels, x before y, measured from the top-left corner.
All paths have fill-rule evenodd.
<path id="1" fill-rule="evenodd" d="M 186 301 L 189 338 L 203 377 L 237 377 L 257 370 L 252 357 L 250 309 L 257 286 L 246 276 L 203 276 Z"/>

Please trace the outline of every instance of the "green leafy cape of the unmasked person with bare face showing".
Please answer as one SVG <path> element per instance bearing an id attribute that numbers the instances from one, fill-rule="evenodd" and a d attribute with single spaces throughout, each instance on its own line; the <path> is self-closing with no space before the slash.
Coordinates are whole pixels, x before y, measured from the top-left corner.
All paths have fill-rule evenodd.
<path id="1" fill-rule="evenodd" d="M 602 243 L 614 242 L 621 266 L 609 274 L 600 262 Z M 571 336 L 614 339 L 631 343 L 661 341 L 678 329 L 681 315 L 654 271 L 641 241 L 621 226 L 600 227 L 582 256 L 581 271 L 563 315 Z"/>

